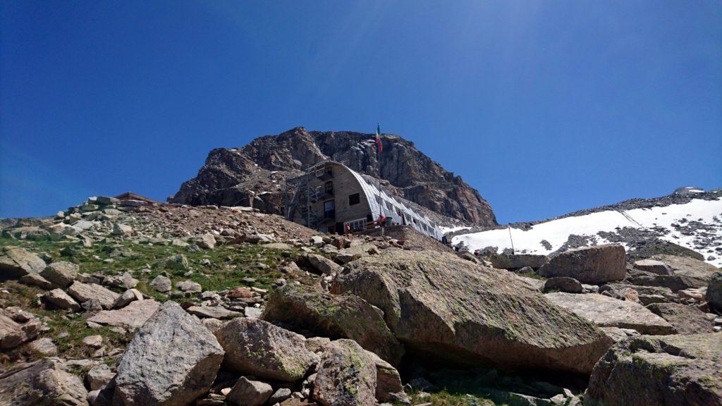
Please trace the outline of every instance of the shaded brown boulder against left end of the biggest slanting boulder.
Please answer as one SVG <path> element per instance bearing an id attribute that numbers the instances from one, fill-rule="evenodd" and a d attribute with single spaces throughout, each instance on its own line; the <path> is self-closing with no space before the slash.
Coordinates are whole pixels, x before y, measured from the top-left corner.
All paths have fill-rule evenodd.
<path id="1" fill-rule="evenodd" d="M 331 295 L 307 285 L 274 290 L 262 319 L 282 321 L 321 337 L 349 338 L 394 365 L 404 355 L 378 308 L 356 295 Z"/>

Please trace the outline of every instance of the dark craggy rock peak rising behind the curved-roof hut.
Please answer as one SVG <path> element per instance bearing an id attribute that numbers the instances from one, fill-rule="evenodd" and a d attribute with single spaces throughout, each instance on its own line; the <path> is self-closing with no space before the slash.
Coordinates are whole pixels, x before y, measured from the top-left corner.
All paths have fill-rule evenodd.
<path id="1" fill-rule="evenodd" d="M 477 190 L 417 150 L 413 142 L 383 135 L 379 163 L 373 139 L 373 134 L 297 127 L 257 138 L 240 149 L 212 150 L 198 176 L 183 183 L 169 200 L 253 205 L 278 214 L 286 178 L 323 160 L 335 160 L 380 179 L 394 193 L 432 212 L 474 225 L 497 224 L 490 204 Z"/>

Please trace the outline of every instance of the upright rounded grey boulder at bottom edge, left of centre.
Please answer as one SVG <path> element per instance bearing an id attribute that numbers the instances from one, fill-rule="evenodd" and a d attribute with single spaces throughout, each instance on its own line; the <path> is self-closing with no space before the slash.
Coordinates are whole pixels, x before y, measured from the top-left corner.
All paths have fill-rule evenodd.
<path id="1" fill-rule="evenodd" d="M 326 346 L 318 363 L 313 399 L 323 406 L 376 405 L 376 365 L 353 340 Z"/>

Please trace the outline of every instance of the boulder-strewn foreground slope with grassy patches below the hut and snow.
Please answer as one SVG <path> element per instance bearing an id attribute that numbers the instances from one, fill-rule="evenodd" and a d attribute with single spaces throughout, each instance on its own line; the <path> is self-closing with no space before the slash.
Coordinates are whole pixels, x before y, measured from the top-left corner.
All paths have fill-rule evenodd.
<path id="1" fill-rule="evenodd" d="M 107 197 L 0 224 L 1 405 L 722 405 L 722 273 L 669 243 L 474 256 Z"/>

